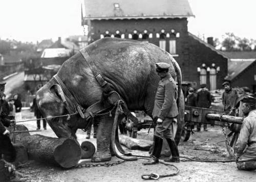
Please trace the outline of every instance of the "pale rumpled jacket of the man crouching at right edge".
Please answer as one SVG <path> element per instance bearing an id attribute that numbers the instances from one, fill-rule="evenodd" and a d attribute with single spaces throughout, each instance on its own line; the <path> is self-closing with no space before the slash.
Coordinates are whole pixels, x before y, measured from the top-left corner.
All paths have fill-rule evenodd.
<path id="1" fill-rule="evenodd" d="M 243 160 L 256 158 L 256 109 L 250 111 L 244 119 L 236 149 L 238 156 L 243 155 Z"/>

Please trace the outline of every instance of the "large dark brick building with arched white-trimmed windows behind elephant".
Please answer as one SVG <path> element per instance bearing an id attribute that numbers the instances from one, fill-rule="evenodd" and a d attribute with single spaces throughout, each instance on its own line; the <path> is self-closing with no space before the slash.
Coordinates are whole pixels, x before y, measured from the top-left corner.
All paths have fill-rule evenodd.
<path id="1" fill-rule="evenodd" d="M 82 25 L 88 26 L 89 43 L 103 37 L 148 41 L 178 61 L 183 81 L 209 89 L 221 88 L 227 75 L 223 53 L 187 30 L 194 17 L 187 0 L 84 0 Z"/>

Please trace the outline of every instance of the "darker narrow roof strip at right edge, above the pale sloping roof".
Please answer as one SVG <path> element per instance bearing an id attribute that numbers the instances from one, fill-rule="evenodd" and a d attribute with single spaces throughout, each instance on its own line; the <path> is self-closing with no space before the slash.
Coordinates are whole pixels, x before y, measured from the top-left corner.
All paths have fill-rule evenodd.
<path id="1" fill-rule="evenodd" d="M 230 59 L 256 59 L 256 51 L 222 51 Z"/>

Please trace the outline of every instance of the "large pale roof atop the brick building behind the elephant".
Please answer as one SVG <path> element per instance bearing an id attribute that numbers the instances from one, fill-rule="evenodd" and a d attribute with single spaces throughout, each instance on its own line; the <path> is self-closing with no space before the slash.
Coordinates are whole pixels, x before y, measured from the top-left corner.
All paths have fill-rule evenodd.
<path id="1" fill-rule="evenodd" d="M 183 18 L 194 16 L 187 0 L 83 0 L 84 19 Z M 118 8 L 115 8 L 118 6 Z M 86 22 L 82 22 L 86 24 Z"/>

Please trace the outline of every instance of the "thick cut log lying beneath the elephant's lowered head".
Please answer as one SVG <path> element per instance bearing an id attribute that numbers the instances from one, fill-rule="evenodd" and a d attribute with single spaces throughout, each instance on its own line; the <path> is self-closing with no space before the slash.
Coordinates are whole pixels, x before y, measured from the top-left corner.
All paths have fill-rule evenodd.
<path id="1" fill-rule="evenodd" d="M 81 158 L 81 147 L 71 138 L 51 138 L 34 134 L 20 142 L 27 148 L 31 160 L 71 168 L 76 166 Z"/>

